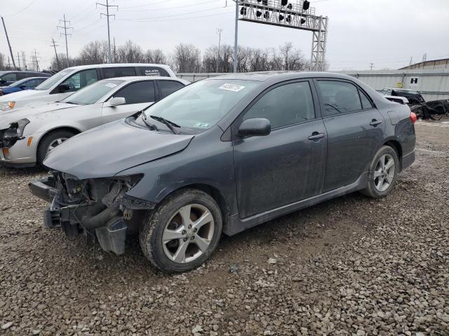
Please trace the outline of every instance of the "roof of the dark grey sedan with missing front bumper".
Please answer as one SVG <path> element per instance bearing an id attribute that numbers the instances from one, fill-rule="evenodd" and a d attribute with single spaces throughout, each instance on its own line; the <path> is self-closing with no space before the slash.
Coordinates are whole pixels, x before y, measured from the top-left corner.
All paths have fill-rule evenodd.
<path id="1" fill-rule="evenodd" d="M 354 80 L 354 77 L 344 75 L 342 73 L 333 72 L 302 72 L 302 71 L 265 71 L 265 72 L 248 72 L 248 73 L 232 73 L 217 77 L 207 78 L 207 80 L 230 79 L 230 80 L 255 80 L 264 82 L 267 80 L 289 80 L 296 78 L 340 78 Z"/>

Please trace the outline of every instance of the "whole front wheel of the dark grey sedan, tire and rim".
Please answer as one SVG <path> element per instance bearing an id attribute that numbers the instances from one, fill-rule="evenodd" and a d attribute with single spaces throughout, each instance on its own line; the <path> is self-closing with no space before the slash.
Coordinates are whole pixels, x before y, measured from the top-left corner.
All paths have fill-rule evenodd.
<path id="1" fill-rule="evenodd" d="M 200 190 L 180 190 L 150 212 L 140 230 L 140 247 L 163 272 L 186 272 L 203 264 L 222 234 L 220 208 Z"/>

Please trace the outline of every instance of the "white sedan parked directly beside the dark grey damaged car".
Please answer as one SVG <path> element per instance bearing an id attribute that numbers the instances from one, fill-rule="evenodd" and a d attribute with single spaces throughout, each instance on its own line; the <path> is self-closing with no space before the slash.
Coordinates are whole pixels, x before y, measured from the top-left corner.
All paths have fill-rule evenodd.
<path id="1" fill-rule="evenodd" d="M 0 162 L 9 167 L 41 164 L 49 151 L 70 137 L 131 116 L 188 84 L 156 76 L 104 79 L 61 102 L 1 113 Z"/>

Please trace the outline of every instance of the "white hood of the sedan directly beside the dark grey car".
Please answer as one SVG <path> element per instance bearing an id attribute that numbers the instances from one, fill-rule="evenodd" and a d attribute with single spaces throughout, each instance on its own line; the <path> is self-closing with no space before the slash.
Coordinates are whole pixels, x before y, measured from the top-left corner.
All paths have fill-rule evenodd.
<path id="1" fill-rule="evenodd" d="M 8 94 L 8 96 L 11 94 Z M 35 106 L 26 106 L 18 109 L 0 112 L 0 130 L 9 127 L 9 124 L 27 118 L 32 121 L 34 116 L 39 116 L 42 113 L 58 111 L 63 109 L 73 109 L 80 105 L 67 103 L 40 103 Z"/>

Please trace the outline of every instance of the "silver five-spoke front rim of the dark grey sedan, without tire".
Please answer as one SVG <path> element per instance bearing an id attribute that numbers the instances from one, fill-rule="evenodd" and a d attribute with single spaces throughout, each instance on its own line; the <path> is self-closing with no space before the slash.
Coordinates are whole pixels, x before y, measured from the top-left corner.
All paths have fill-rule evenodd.
<path id="1" fill-rule="evenodd" d="M 163 251 L 174 262 L 191 262 L 206 252 L 214 227 L 206 207 L 188 204 L 175 212 L 163 230 Z"/>

